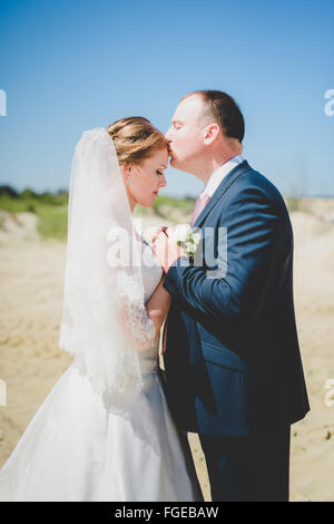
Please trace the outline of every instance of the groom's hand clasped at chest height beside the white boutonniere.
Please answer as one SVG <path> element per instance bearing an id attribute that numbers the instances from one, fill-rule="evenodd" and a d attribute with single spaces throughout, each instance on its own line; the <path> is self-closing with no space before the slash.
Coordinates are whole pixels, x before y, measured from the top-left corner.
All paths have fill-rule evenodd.
<path id="1" fill-rule="evenodd" d="M 179 256 L 186 255 L 185 250 L 177 245 L 175 230 L 166 226 L 163 226 L 154 237 L 153 251 L 165 273 Z"/>

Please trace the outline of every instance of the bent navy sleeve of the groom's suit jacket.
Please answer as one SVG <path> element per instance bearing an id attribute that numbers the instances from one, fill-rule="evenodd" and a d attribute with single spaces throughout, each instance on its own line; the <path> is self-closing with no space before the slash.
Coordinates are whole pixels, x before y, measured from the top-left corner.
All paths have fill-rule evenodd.
<path id="1" fill-rule="evenodd" d="M 267 290 L 281 222 L 275 207 L 263 188 L 242 190 L 218 224 L 227 227 L 225 276 L 207 278 L 205 264 L 181 266 L 176 261 L 165 289 L 202 314 L 229 321 L 247 318 Z"/>

